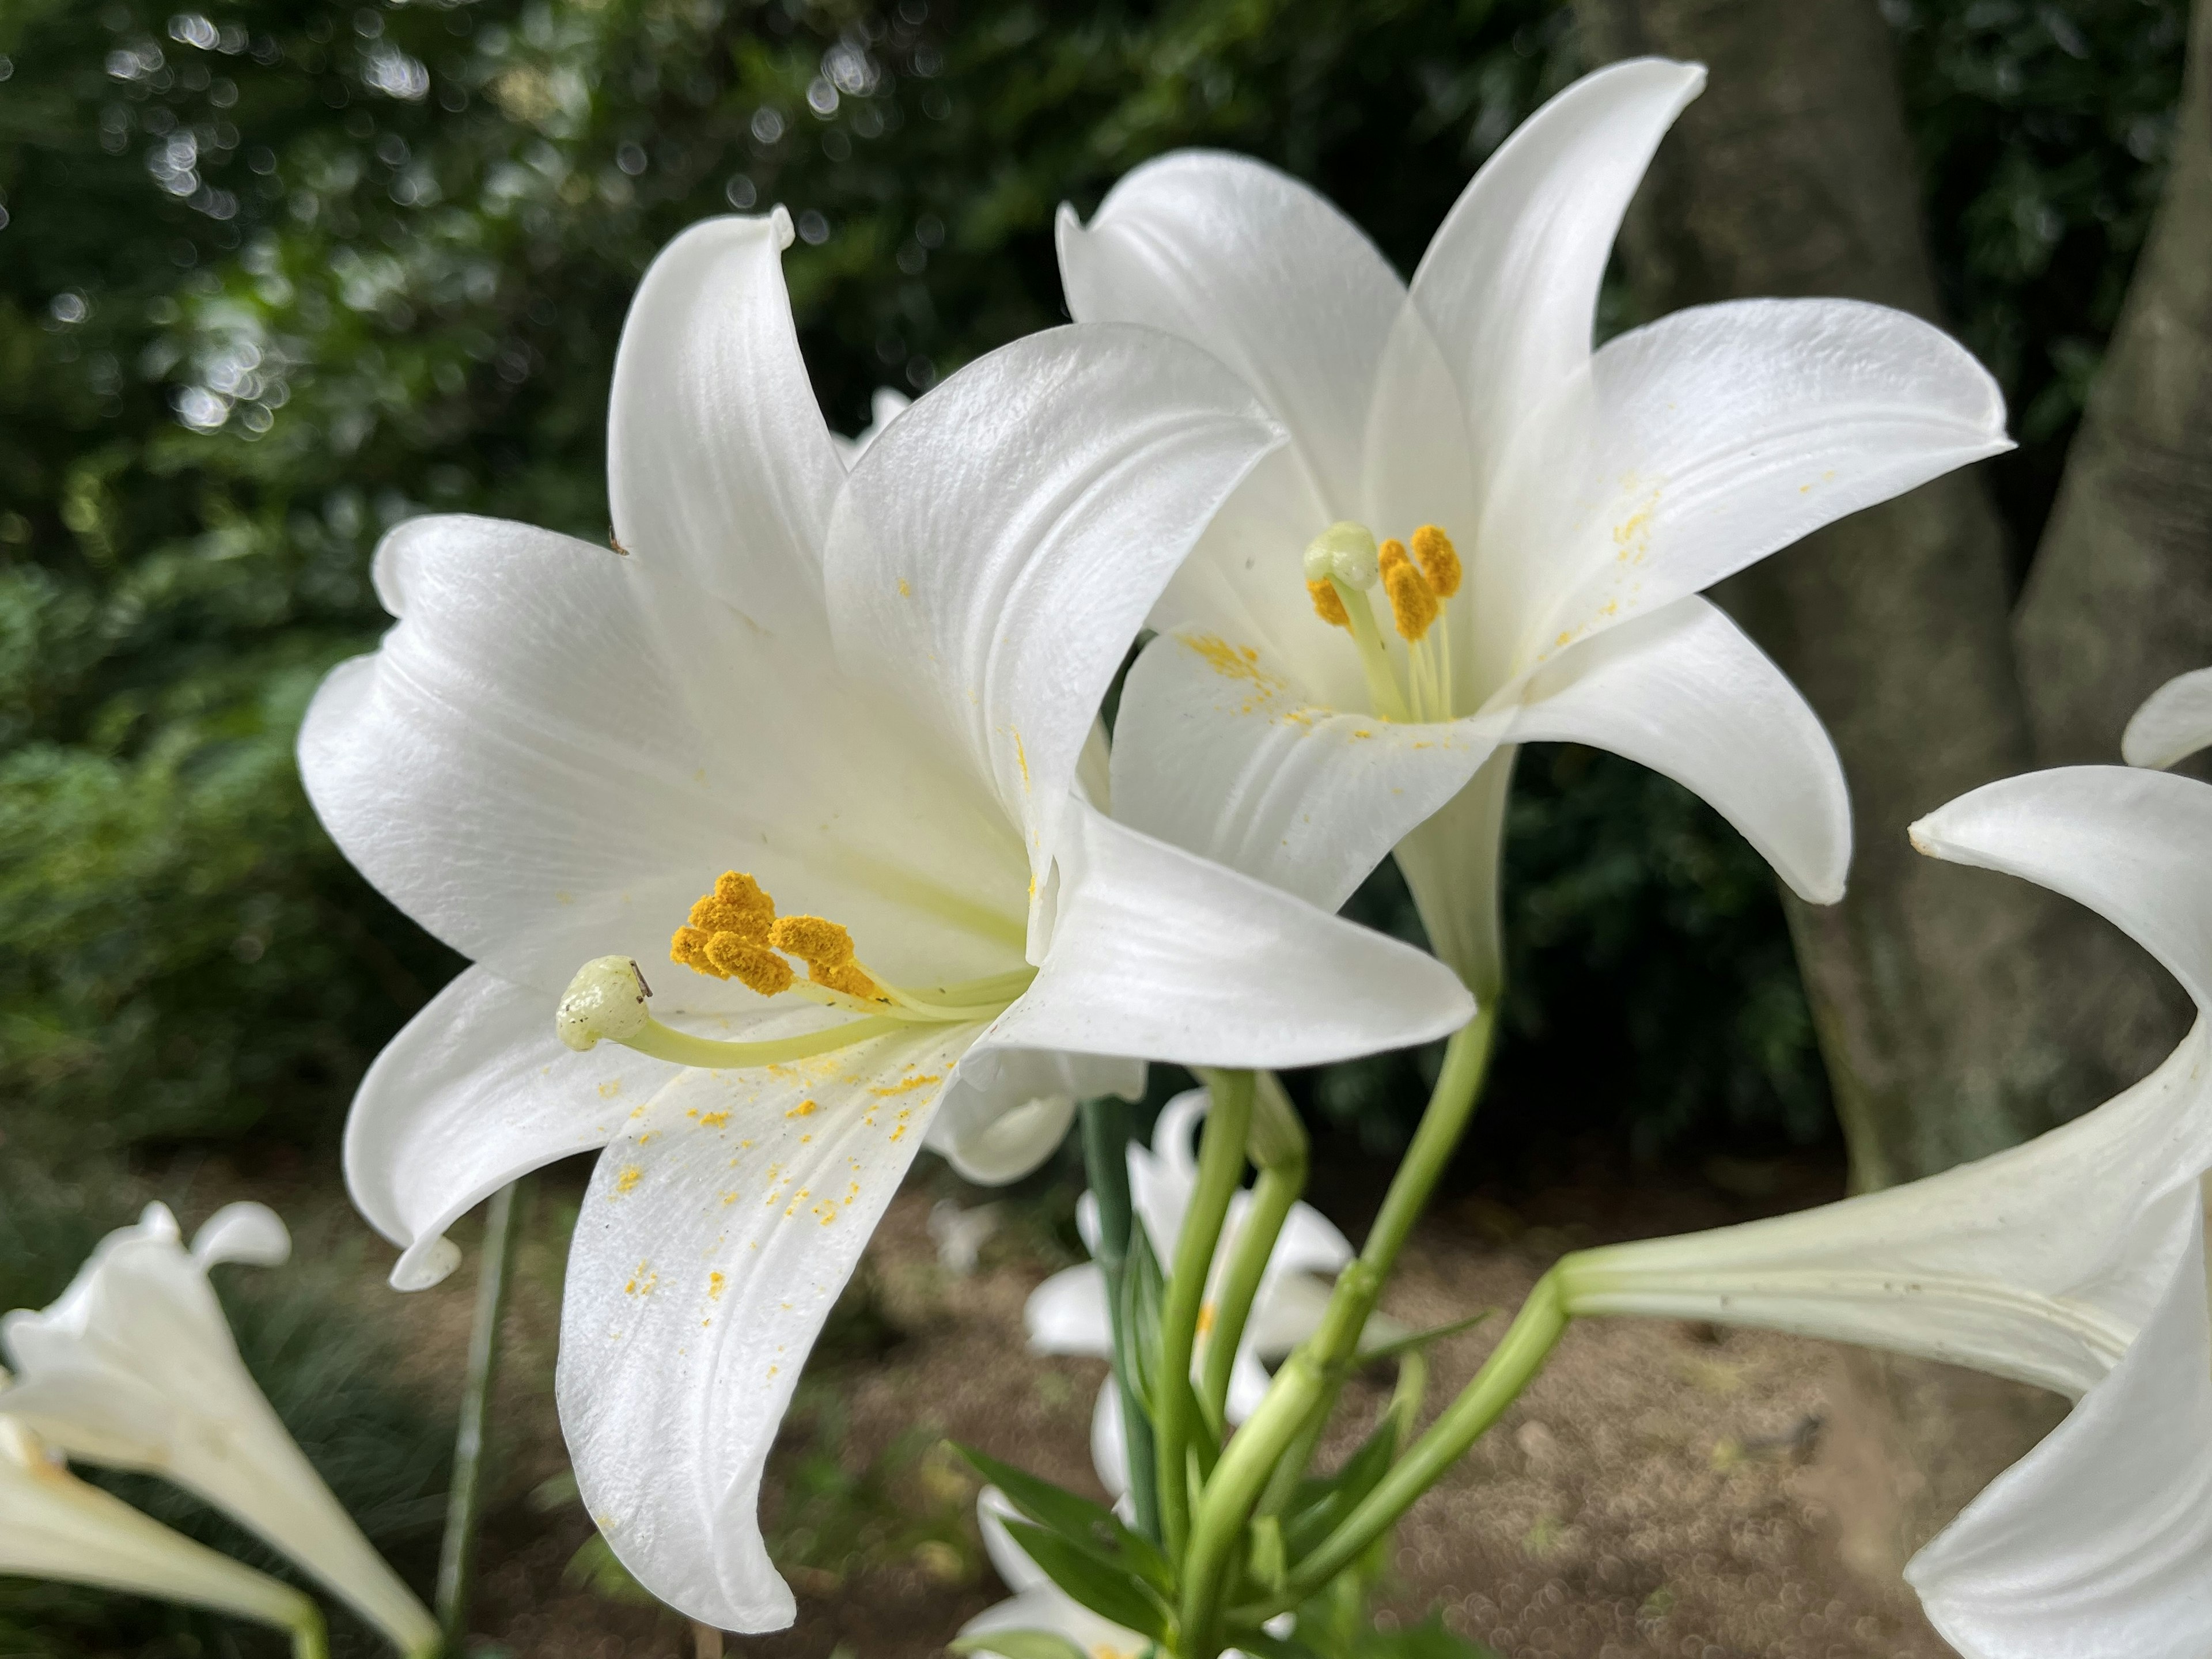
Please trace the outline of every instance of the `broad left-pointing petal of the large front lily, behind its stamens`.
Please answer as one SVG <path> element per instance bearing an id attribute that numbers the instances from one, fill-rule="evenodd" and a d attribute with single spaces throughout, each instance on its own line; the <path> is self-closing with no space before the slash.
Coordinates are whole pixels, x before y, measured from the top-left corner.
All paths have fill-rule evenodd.
<path id="1" fill-rule="evenodd" d="M 323 681 L 301 774 L 345 856 L 465 956 L 555 995 L 597 956 L 650 971 L 739 867 L 894 978 L 1020 964 L 1013 832 L 818 644 L 484 518 L 409 520 L 376 582 L 400 624 Z M 754 1006 L 697 973 L 657 989 L 677 1011 Z"/>

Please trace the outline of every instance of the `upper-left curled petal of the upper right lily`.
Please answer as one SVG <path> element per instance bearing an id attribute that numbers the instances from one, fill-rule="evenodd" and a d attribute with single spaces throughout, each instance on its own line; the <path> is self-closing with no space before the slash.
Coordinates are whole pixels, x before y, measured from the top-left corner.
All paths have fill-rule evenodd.
<path id="1" fill-rule="evenodd" d="M 1352 511 L 1367 400 L 1405 301 L 1356 223 L 1265 161 L 1177 150 L 1128 173 L 1088 228 L 1062 206 L 1055 230 L 1077 323 L 1203 345 L 1290 429 L 1305 535 Z"/>

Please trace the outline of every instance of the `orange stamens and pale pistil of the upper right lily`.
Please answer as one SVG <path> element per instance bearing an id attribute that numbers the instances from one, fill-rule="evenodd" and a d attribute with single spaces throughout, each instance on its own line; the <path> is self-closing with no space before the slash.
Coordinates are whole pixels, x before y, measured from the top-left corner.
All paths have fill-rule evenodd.
<path id="1" fill-rule="evenodd" d="M 1405 641 L 1402 677 L 1367 602 L 1367 591 L 1376 584 L 1383 586 L 1391 624 Z M 1314 615 L 1352 635 L 1367 675 L 1367 697 L 1387 721 L 1453 717 L 1451 630 L 1438 624 L 1458 591 L 1460 553 L 1436 524 L 1413 531 L 1411 551 L 1396 538 L 1378 546 L 1374 531 L 1349 520 L 1329 524 L 1305 546 L 1305 593 L 1314 602 Z"/>

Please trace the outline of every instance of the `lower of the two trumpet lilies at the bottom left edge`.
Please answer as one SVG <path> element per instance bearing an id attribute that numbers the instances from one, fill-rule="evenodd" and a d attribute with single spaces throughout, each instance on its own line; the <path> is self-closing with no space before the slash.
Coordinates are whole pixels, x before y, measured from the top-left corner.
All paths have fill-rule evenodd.
<path id="1" fill-rule="evenodd" d="M 157 1595 L 285 1630 L 321 1630 L 314 1601 L 290 1584 L 217 1555 L 77 1480 L 13 1418 L 0 1418 L 0 1573 Z"/>

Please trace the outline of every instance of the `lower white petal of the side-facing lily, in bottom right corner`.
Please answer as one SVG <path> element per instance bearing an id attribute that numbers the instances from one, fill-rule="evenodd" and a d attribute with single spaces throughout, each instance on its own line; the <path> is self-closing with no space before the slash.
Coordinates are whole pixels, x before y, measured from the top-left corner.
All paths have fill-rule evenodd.
<path id="1" fill-rule="evenodd" d="M 2203 1223 L 2128 1356 L 1905 1568 L 1964 1659 L 2201 1659 L 2212 1630 Z"/>

